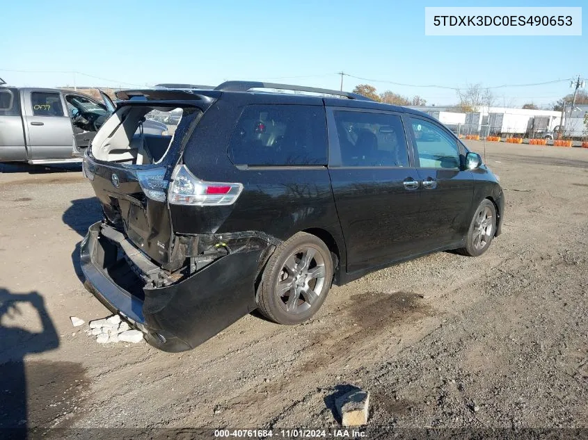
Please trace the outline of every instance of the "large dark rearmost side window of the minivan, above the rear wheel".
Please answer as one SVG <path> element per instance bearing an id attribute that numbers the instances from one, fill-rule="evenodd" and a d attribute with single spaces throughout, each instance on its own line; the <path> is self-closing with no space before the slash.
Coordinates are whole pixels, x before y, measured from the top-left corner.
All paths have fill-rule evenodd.
<path id="1" fill-rule="evenodd" d="M 321 106 L 246 106 L 229 142 L 237 165 L 326 165 Z"/>

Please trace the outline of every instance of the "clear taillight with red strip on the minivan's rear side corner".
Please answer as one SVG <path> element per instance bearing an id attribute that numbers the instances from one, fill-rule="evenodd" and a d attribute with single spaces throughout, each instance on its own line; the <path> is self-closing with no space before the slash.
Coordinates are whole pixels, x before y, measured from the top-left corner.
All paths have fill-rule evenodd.
<path id="1" fill-rule="evenodd" d="M 242 184 L 206 182 L 192 174 L 186 165 L 177 165 L 168 190 L 170 204 L 219 206 L 230 205 L 243 190 Z"/>

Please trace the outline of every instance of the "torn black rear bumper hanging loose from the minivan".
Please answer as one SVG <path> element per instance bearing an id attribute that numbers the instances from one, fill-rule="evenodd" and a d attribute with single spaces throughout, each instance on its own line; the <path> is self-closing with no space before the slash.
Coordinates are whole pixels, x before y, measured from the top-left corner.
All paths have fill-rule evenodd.
<path id="1" fill-rule="evenodd" d="M 102 231 L 101 222 L 88 229 L 81 243 L 86 286 L 157 348 L 194 348 L 257 307 L 255 282 L 271 244 L 221 256 L 179 282 L 154 287 L 136 275 L 129 258 L 142 271 L 154 272 L 157 266 L 138 250 L 129 255 L 124 236 L 118 234 Z"/>

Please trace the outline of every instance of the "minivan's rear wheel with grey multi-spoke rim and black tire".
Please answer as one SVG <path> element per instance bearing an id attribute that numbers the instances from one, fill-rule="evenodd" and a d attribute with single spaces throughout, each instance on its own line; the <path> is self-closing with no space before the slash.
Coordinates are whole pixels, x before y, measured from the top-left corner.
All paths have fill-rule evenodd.
<path id="1" fill-rule="evenodd" d="M 279 245 L 267 262 L 257 307 L 275 323 L 302 323 L 317 313 L 332 281 L 328 247 L 317 236 L 299 232 Z"/>

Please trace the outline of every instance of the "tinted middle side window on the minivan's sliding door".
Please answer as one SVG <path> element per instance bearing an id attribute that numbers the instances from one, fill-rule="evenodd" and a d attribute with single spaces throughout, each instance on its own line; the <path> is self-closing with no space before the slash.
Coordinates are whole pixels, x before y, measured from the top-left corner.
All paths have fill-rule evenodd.
<path id="1" fill-rule="evenodd" d="M 343 166 L 408 166 L 406 136 L 399 115 L 335 111 L 335 126 Z"/>

